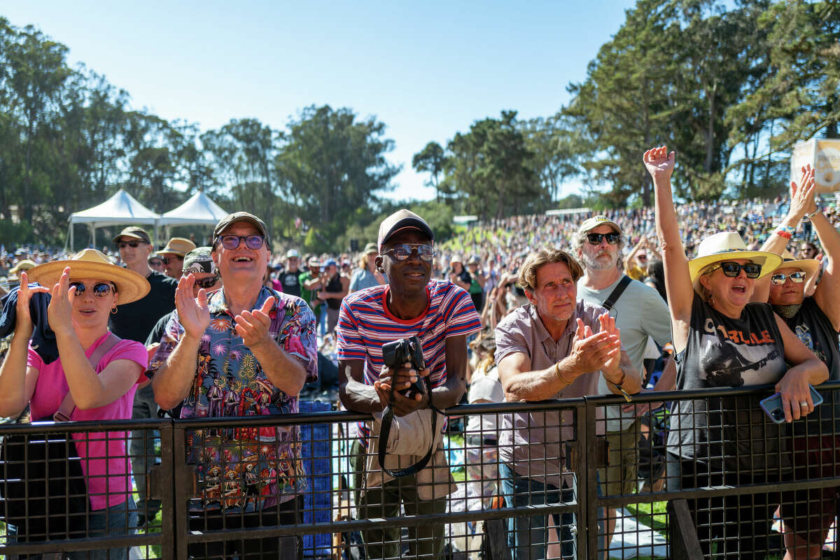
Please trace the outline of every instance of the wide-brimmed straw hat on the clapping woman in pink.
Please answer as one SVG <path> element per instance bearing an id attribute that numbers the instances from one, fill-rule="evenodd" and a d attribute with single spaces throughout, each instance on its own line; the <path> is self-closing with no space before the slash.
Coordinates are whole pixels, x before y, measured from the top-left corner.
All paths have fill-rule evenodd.
<path id="1" fill-rule="evenodd" d="M 119 293 L 119 304 L 131 303 L 149 293 L 149 281 L 137 272 L 118 267 L 96 249 L 84 249 L 66 261 L 53 261 L 40 264 L 31 269 L 27 276 L 29 282 L 52 288 L 58 283 L 65 267 L 70 267 L 71 278 L 96 278 L 113 282 Z"/>

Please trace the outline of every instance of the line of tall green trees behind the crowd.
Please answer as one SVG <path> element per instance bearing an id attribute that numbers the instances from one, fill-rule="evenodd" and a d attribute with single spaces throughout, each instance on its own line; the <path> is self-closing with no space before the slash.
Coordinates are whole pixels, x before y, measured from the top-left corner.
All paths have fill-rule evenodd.
<path id="1" fill-rule="evenodd" d="M 415 154 L 436 198 L 412 202 L 386 196 L 400 168 L 376 117 L 309 106 L 281 130 L 234 118 L 202 131 L 132 108 L 129 92 L 71 68 L 65 45 L 0 18 L 0 242 L 61 244 L 71 212 L 117 189 L 157 212 L 201 189 L 307 250 L 364 244 L 402 205 L 445 238 L 455 214 L 649 205 L 638 161 L 663 143 L 680 150 L 681 197 L 772 196 L 794 143 L 840 134 L 838 37 L 831 0 L 638 0 L 556 114 L 501 111 Z M 559 199 L 570 179 L 587 190 Z"/>

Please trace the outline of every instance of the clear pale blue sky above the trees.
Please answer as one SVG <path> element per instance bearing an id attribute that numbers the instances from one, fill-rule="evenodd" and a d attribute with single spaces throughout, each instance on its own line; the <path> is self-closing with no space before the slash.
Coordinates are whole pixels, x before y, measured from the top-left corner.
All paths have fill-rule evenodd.
<path id="1" fill-rule="evenodd" d="M 134 108 L 202 130 L 256 117 L 284 128 L 312 104 L 385 122 L 398 199 L 433 198 L 411 159 L 503 109 L 547 117 L 624 21 L 630 0 L 572 3 L 11 2 L 128 91 Z M 560 196 L 578 189 L 568 184 Z"/>

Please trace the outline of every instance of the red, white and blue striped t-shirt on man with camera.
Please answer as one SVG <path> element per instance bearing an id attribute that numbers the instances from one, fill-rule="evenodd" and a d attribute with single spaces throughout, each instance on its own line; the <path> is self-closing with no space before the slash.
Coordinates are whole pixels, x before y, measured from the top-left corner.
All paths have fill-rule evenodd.
<path id="1" fill-rule="evenodd" d="M 426 310 L 415 319 L 398 319 L 386 304 L 390 289 L 388 285 L 374 286 L 344 298 L 335 329 L 339 360 L 364 360 L 365 384 L 373 385 L 384 365 L 382 345 L 417 334 L 423 343 L 429 381 L 434 387 L 444 385 L 446 339 L 481 329 L 470 294 L 453 283 L 430 280 Z M 368 435 L 365 423 L 359 424 L 359 430 L 363 438 Z"/>

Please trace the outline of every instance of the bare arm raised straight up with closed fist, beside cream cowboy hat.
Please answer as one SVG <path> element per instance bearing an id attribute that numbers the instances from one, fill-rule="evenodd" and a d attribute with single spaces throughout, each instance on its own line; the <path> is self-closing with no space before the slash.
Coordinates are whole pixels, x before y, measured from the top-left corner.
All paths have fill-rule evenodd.
<path id="1" fill-rule="evenodd" d="M 644 153 L 644 166 L 654 179 L 656 200 L 656 235 L 662 244 L 662 262 L 665 270 L 665 287 L 668 290 L 668 307 L 675 350 L 679 353 L 688 341 L 691 303 L 694 288 L 688 270 L 688 258 L 680 240 L 680 226 L 671 197 L 671 174 L 674 173 L 675 153 L 668 148 L 649 149 Z"/>

